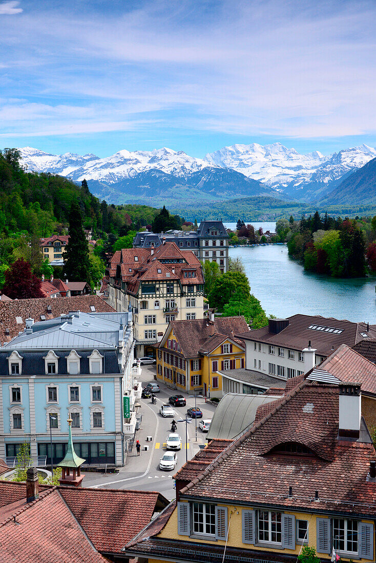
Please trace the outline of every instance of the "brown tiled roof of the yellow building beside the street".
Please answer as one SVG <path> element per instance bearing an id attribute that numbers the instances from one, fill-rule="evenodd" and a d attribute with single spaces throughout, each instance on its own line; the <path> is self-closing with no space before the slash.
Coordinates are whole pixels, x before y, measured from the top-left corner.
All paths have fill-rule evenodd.
<path id="1" fill-rule="evenodd" d="M 210 337 L 210 321 L 207 319 L 174 320 L 170 323 L 174 336 L 180 344 L 184 358 L 198 358 L 200 354 L 213 350 L 219 346 L 224 338 L 229 338 L 239 346 L 244 347 L 242 341 L 235 338 L 235 334 L 244 332 L 248 325 L 244 316 L 217 317 L 214 319 L 214 334 Z M 165 334 L 166 336 L 166 334 Z M 211 345 L 214 339 L 214 345 Z M 163 347 L 162 339 L 160 347 Z"/>

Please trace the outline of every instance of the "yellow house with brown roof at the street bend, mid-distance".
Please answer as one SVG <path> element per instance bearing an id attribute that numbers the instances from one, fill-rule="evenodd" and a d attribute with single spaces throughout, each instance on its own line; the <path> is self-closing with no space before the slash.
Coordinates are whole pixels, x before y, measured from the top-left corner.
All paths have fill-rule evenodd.
<path id="1" fill-rule="evenodd" d="M 222 397 L 222 375 L 244 368 L 244 343 L 235 334 L 249 330 L 244 316 L 172 321 L 158 346 L 157 379 L 186 392 Z"/>

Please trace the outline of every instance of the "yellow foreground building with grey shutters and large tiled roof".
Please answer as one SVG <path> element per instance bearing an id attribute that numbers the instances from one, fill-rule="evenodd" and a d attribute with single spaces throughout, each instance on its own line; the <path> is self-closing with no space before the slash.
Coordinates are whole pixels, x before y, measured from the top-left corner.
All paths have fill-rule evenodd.
<path id="1" fill-rule="evenodd" d="M 376 453 L 360 413 L 357 384 L 296 382 L 176 473 L 176 500 L 125 555 L 296 563 L 310 547 L 321 562 L 375 561 Z"/>

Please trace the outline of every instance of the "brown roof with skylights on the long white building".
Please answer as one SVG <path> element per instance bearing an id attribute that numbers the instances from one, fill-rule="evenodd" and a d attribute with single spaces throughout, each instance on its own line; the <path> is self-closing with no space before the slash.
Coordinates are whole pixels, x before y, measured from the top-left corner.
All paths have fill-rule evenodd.
<path id="1" fill-rule="evenodd" d="M 324 318 L 316 315 L 293 315 L 287 318 L 289 325 L 278 334 L 269 332 L 269 327 L 251 330 L 250 333 L 242 334 L 242 338 L 266 342 L 275 346 L 286 346 L 293 350 L 303 350 L 311 341 L 312 348 L 316 348 L 317 354 L 329 356 L 331 352 L 341 344 L 353 346 L 364 339 L 362 332 L 367 332 L 366 323 L 352 323 L 348 320 Z M 341 329 L 342 332 L 322 332 L 321 330 L 309 329 L 310 325 L 325 326 Z M 376 337 L 376 325 L 370 325 L 369 337 Z"/>

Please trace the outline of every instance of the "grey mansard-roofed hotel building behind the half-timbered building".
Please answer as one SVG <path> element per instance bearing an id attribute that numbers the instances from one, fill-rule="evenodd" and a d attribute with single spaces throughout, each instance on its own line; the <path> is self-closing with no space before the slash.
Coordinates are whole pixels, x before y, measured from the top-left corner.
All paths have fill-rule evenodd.
<path id="1" fill-rule="evenodd" d="M 228 271 L 228 234 L 222 221 L 202 221 L 197 231 L 137 233 L 135 248 L 157 248 L 163 242 L 174 242 L 180 250 L 191 250 L 200 262 L 218 263 L 221 274 Z"/>

